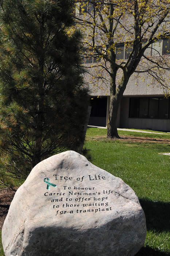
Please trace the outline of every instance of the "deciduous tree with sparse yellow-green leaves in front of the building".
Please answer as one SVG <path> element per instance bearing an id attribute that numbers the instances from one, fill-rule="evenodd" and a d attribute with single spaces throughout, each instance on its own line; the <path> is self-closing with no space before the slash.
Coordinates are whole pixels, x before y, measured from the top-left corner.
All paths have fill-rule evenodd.
<path id="1" fill-rule="evenodd" d="M 119 138 L 117 111 L 132 76 L 138 75 L 144 79 L 149 74 L 153 83 L 161 84 L 169 94 L 169 80 L 165 72 L 170 70 L 170 59 L 166 56 L 169 54 L 170 1 L 79 0 L 77 7 L 78 26 L 86 35 L 86 60 L 95 59 L 88 67 L 92 78 L 89 83 L 110 86 L 107 137 Z M 154 43 L 162 38 L 166 39 L 167 44 L 165 55 L 161 56 L 154 49 L 158 57 L 148 56 L 148 49 L 153 49 Z M 125 57 L 122 57 L 123 47 Z"/>

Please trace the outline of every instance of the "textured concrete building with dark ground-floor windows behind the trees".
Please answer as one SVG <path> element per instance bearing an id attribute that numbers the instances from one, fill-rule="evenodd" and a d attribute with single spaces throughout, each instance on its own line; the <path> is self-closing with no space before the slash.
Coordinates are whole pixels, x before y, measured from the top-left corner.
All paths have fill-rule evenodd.
<path id="1" fill-rule="evenodd" d="M 117 127 L 170 131 L 170 99 L 167 98 L 170 88 L 170 40 L 168 40 L 170 23 L 166 15 L 164 22 L 161 21 L 167 11 L 166 3 L 161 5 L 160 9 L 157 0 L 148 1 L 147 8 L 141 7 L 145 6 L 143 1 L 81 0 L 79 2 L 78 22 L 80 28 L 84 28 L 82 31 L 86 35 L 82 64 L 88 67 L 85 82 L 90 89 L 92 106 L 89 125 L 107 126 L 111 78 L 108 74 L 109 72 L 111 74 L 111 63 L 112 66 L 114 66 L 113 62 L 121 67 L 124 65 L 127 69 L 126 64 L 133 59 L 133 61 L 140 60 L 135 72 L 143 73 L 141 75 L 134 73 L 128 80 L 119 103 Z M 140 5 L 138 9 L 140 15 L 136 10 L 136 3 Z M 114 11 L 116 9 L 117 12 Z M 155 27 L 157 22 L 158 26 Z M 136 24 L 142 26 L 141 30 L 136 29 L 138 27 Z M 140 47 L 145 49 L 142 55 L 136 53 L 134 55 L 136 45 L 139 46 L 138 38 Z M 115 54 L 111 54 L 113 51 Z M 114 58 L 111 55 L 114 55 Z M 110 63 L 107 64 L 107 61 Z M 99 66 L 97 76 L 95 66 Z M 146 70 L 148 72 L 144 72 Z M 123 70 L 119 68 L 116 73 L 116 84 L 120 84 L 123 76 Z M 96 79 L 97 77 L 100 79 Z"/>

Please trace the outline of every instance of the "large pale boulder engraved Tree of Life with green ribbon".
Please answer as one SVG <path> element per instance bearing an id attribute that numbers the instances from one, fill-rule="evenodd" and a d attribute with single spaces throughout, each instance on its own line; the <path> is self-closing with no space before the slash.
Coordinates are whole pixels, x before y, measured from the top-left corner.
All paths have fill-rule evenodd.
<path id="1" fill-rule="evenodd" d="M 57 187 L 48 190 L 45 178 Z M 130 256 L 145 238 L 145 216 L 135 192 L 74 151 L 54 155 L 32 169 L 2 229 L 6 256 Z"/>

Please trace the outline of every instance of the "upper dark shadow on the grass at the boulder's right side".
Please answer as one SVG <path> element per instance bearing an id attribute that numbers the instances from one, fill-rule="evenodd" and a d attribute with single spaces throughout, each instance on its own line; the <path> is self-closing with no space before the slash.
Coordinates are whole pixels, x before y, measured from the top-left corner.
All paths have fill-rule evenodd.
<path id="1" fill-rule="evenodd" d="M 146 217 L 147 230 L 155 229 L 157 231 L 170 230 L 170 203 L 151 201 L 140 199 L 140 204 L 143 208 Z"/>

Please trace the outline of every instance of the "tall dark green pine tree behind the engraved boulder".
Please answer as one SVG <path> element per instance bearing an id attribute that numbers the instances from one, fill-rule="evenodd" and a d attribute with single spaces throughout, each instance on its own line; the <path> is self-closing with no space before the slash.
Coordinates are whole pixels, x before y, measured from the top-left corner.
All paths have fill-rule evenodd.
<path id="1" fill-rule="evenodd" d="M 82 36 L 70 32 L 72 0 L 4 0 L 1 7 L 0 167 L 26 178 L 43 159 L 81 143 Z"/>

